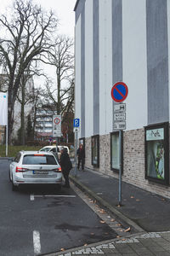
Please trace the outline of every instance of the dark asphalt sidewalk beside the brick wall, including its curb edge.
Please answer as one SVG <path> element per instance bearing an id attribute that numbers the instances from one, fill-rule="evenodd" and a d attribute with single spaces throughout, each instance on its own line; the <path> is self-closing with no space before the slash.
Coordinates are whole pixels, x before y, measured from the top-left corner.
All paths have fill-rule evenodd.
<path id="1" fill-rule="evenodd" d="M 77 171 L 71 180 L 80 189 L 94 197 L 118 218 L 136 231 L 161 232 L 170 230 L 170 200 L 122 182 L 122 207 L 118 205 L 118 179 L 99 172 Z"/>

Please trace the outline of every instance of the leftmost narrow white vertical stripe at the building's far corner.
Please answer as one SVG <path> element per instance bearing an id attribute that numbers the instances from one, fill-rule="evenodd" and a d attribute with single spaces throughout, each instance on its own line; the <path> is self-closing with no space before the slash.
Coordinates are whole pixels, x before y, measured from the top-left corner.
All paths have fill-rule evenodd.
<path id="1" fill-rule="evenodd" d="M 75 27 L 75 118 L 81 119 L 81 15 L 77 20 L 77 26 Z M 81 134 L 81 124 L 80 131 L 78 132 L 78 137 Z"/>

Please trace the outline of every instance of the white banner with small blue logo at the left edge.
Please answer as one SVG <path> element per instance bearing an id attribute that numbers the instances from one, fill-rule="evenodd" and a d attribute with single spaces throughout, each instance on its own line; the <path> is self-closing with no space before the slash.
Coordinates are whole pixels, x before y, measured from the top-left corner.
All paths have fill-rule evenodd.
<path id="1" fill-rule="evenodd" d="M 8 125 L 8 93 L 0 92 L 0 125 Z"/>

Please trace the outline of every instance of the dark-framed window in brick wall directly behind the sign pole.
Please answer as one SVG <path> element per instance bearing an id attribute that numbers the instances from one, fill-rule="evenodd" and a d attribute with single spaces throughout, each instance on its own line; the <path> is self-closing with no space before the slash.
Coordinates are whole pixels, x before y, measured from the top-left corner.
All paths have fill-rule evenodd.
<path id="1" fill-rule="evenodd" d="M 119 131 L 111 132 L 111 170 L 114 172 L 119 172 L 119 167 L 120 167 L 120 157 L 119 157 L 120 148 L 119 147 L 120 147 Z"/>

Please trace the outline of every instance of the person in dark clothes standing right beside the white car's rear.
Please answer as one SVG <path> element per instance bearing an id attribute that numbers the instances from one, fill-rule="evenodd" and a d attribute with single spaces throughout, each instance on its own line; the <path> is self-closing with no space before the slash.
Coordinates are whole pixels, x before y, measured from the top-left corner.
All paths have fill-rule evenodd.
<path id="1" fill-rule="evenodd" d="M 59 159 L 59 164 L 61 166 L 61 171 L 63 173 L 63 176 L 65 177 L 65 185 L 63 187 L 70 188 L 69 172 L 71 171 L 71 168 L 72 168 L 71 160 L 70 160 L 69 154 L 67 153 L 66 148 L 61 148 L 60 152 L 61 152 L 61 155 Z"/>

